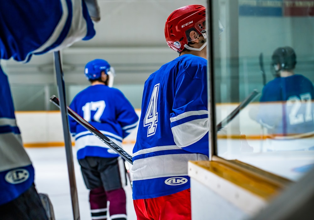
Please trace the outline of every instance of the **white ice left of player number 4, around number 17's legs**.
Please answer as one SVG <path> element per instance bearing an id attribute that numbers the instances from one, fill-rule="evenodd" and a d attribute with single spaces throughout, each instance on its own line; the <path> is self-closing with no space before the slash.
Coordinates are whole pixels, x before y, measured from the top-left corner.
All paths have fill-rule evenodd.
<path id="1" fill-rule="evenodd" d="M 131 154 L 133 145 L 123 148 Z M 68 166 L 64 147 L 26 148 L 35 168 L 35 185 L 39 193 L 46 193 L 51 200 L 56 220 L 73 220 Z M 89 191 L 84 185 L 80 166 L 73 147 L 73 161 L 78 191 L 78 204 L 81 220 L 90 220 Z M 131 168 L 131 165 L 130 165 Z M 128 184 L 124 188 L 127 195 L 127 219 L 136 220 L 133 208 L 132 189 Z M 110 220 L 110 218 L 108 218 Z"/>

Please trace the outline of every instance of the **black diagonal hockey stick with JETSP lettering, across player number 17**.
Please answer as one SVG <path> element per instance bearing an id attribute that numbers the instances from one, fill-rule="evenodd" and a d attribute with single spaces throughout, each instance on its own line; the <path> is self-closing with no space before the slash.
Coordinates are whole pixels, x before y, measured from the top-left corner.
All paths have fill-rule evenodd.
<path id="1" fill-rule="evenodd" d="M 57 105 L 60 108 L 59 105 L 59 99 L 53 95 L 50 98 L 50 101 Z M 130 164 L 133 164 L 132 162 L 132 156 L 129 155 L 125 150 L 123 150 L 121 147 L 119 147 L 118 145 L 116 145 L 112 140 L 110 140 L 107 136 L 105 136 L 103 133 L 101 133 L 100 131 L 98 131 L 94 126 L 92 126 L 91 124 L 89 124 L 87 121 L 85 121 L 84 118 L 82 118 L 80 115 L 78 115 L 75 111 L 73 111 L 72 109 L 70 109 L 70 107 L 67 106 L 68 109 L 68 114 L 69 116 L 71 116 L 75 121 L 77 121 L 80 125 L 82 125 L 83 127 L 85 127 L 87 130 L 89 130 L 92 134 L 94 134 L 97 138 L 99 138 L 102 142 L 104 142 L 105 144 L 107 144 L 111 149 L 113 149 L 114 151 L 117 152 L 117 154 L 119 154 L 124 160 L 126 160 L 127 162 L 129 162 Z M 69 132 L 70 134 L 70 132 Z"/>

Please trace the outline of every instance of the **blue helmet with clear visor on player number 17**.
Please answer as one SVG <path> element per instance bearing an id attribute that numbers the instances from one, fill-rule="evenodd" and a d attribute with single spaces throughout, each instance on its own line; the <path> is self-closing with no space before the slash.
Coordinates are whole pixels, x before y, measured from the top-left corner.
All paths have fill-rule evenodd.
<path id="1" fill-rule="evenodd" d="M 85 65 L 84 74 L 88 80 L 95 80 L 100 78 L 102 71 L 105 71 L 105 74 L 109 75 L 108 86 L 112 87 L 115 71 L 104 59 L 94 59 L 89 61 Z"/>

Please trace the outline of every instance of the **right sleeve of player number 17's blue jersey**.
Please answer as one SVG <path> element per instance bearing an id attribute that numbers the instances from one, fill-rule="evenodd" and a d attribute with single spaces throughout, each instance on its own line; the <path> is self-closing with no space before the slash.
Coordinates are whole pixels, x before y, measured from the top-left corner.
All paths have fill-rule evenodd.
<path id="1" fill-rule="evenodd" d="M 126 138 L 138 125 L 138 115 L 132 104 L 127 100 L 121 91 L 118 92 L 119 99 L 117 111 L 117 121 L 122 127 L 122 138 Z"/>

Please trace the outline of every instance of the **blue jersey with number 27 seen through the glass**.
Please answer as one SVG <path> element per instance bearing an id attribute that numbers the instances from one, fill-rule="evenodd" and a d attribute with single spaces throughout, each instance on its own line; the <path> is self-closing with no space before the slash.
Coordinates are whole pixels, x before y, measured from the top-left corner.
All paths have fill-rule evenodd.
<path id="1" fill-rule="evenodd" d="M 305 76 L 277 77 L 263 88 L 257 120 L 274 136 L 313 132 L 313 100 L 314 87 Z"/>

